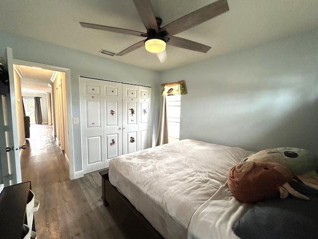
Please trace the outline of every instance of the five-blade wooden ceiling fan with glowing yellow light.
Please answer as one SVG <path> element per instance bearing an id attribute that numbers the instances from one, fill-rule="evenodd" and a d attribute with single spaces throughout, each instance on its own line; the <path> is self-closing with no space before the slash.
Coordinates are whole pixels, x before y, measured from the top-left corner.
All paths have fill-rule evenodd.
<path id="1" fill-rule="evenodd" d="M 229 10 L 227 0 L 218 0 L 209 5 L 206 5 L 198 10 L 195 10 L 179 19 L 160 27 L 162 19 L 156 17 L 150 0 L 133 0 L 138 10 L 138 13 L 147 29 L 147 33 L 123 29 L 112 26 L 97 25 L 86 22 L 79 22 L 82 27 L 93 28 L 104 31 L 129 34 L 134 36 L 146 37 L 146 40 L 137 42 L 136 44 L 117 53 L 116 56 L 123 56 L 145 45 L 146 50 L 152 53 L 164 53 L 166 44 L 176 47 L 181 47 L 188 50 L 206 53 L 210 50 L 210 46 L 203 45 L 198 42 L 176 37 L 182 31 L 194 27 L 202 22 L 205 22 L 215 16 L 218 16 Z M 160 55 L 158 54 L 159 60 Z M 160 60 L 161 61 L 161 60 Z"/>

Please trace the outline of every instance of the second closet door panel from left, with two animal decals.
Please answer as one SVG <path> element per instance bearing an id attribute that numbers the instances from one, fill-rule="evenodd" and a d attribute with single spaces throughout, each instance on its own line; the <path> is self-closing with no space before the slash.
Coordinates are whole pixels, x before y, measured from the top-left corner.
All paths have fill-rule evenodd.
<path id="1" fill-rule="evenodd" d="M 109 160 L 122 155 L 122 84 L 104 81 L 104 140 L 105 165 Z"/>

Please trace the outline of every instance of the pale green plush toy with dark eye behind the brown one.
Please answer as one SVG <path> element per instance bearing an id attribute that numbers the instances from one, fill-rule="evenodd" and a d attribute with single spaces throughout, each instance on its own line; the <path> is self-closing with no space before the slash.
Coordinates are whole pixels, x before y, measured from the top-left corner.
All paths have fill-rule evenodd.
<path id="1" fill-rule="evenodd" d="M 243 161 L 274 162 L 289 167 L 294 176 L 304 175 L 318 169 L 318 158 L 302 148 L 272 148 L 252 154 Z"/>

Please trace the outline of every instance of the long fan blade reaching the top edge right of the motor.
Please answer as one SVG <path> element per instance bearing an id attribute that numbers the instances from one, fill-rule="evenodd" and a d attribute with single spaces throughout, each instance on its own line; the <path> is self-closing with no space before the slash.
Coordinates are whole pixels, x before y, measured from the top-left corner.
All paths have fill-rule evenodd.
<path id="1" fill-rule="evenodd" d="M 160 31 L 167 31 L 169 35 L 175 35 L 185 31 L 191 27 L 199 25 L 215 16 L 218 16 L 229 10 L 227 0 L 218 0 L 209 5 L 206 5 L 196 11 L 193 11 L 179 19 L 172 21 L 160 29 Z"/>

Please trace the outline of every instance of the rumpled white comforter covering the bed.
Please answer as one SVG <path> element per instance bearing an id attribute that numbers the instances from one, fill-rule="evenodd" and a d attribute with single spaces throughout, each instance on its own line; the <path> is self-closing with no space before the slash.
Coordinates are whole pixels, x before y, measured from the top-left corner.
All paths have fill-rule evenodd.
<path id="1" fill-rule="evenodd" d="M 224 185 L 249 154 L 185 139 L 112 159 L 109 180 L 165 239 L 237 238 L 232 227 L 249 205 Z"/>

